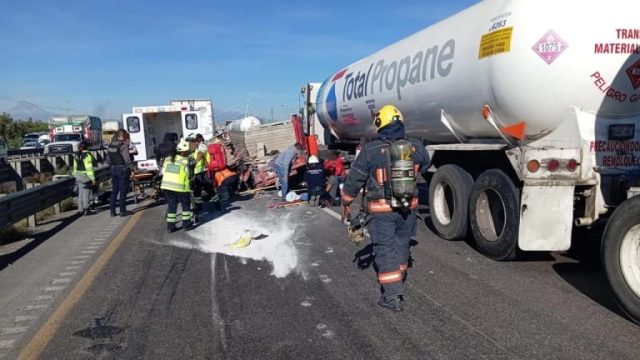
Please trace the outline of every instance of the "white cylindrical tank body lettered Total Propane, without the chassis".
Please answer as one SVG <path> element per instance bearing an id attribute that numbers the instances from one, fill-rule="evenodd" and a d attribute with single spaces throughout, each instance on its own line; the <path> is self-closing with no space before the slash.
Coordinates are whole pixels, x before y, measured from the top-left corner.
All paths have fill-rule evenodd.
<path id="1" fill-rule="evenodd" d="M 498 138 L 485 105 L 500 126 L 525 122 L 527 140 L 571 106 L 638 115 L 638 10 L 637 0 L 485 0 L 331 75 L 317 113 L 333 135 L 357 140 L 393 104 L 410 135 L 432 142 Z"/>

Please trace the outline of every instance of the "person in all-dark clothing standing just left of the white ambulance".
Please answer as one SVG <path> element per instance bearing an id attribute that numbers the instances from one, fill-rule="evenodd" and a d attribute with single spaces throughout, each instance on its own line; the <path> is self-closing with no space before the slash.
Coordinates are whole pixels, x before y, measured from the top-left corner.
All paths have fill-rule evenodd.
<path id="1" fill-rule="evenodd" d="M 116 216 L 116 201 L 119 198 L 120 216 L 129 216 L 127 211 L 127 193 L 131 177 L 131 157 L 129 155 L 129 133 L 124 129 L 116 132 L 107 147 L 107 162 L 111 170 L 111 216 Z"/>

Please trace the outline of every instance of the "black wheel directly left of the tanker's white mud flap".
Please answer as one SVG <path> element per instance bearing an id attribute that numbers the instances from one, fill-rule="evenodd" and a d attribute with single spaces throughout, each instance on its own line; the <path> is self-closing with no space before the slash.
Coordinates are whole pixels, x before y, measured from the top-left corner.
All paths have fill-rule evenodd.
<path id="1" fill-rule="evenodd" d="M 469 222 L 478 250 L 494 260 L 513 260 L 518 248 L 518 189 L 502 170 L 476 179 L 469 197 Z"/>

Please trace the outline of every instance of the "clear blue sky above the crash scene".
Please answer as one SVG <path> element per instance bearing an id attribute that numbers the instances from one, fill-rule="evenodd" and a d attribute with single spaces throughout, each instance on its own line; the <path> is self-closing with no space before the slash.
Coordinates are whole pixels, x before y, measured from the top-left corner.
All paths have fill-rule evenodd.
<path id="1" fill-rule="evenodd" d="M 250 99 L 285 119 L 304 83 L 476 2 L 4 1 L 0 110 L 26 100 L 119 117 L 173 98 L 225 111 Z"/>

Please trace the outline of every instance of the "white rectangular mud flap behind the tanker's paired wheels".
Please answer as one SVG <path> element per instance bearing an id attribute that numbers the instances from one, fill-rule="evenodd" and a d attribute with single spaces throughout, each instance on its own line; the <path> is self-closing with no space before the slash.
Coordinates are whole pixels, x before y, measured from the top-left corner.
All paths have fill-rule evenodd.
<path id="1" fill-rule="evenodd" d="M 523 251 L 564 251 L 571 246 L 574 186 L 522 188 L 518 247 Z"/>

